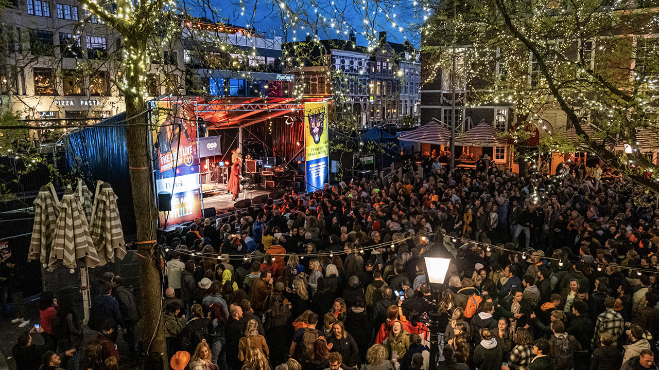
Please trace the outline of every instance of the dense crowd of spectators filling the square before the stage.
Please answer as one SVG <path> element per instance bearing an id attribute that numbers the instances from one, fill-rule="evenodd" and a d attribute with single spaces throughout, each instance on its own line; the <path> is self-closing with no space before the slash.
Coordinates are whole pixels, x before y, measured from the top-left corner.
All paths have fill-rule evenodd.
<path id="1" fill-rule="evenodd" d="M 384 179 L 196 219 L 159 241 L 168 365 L 427 370 L 435 312 L 439 369 L 656 369 L 649 200 L 599 167 L 523 178 L 479 160 L 451 174 L 426 157 Z M 433 244 L 457 250 L 439 290 L 420 255 Z M 130 350 L 121 360 L 138 357 L 132 288 L 111 274 L 96 286 L 97 338 L 81 348 L 70 302 L 43 294 L 40 329 L 14 348 L 19 369 L 111 369 L 119 333 Z M 36 332 L 43 356 L 30 349 Z"/>

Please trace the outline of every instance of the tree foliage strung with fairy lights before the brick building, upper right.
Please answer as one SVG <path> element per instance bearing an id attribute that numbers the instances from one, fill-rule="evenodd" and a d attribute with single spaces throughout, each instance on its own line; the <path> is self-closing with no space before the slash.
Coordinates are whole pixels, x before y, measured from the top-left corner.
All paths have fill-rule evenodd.
<path id="1" fill-rule="evenodd" d="M 440 78 L 457 59 L 455 78 L 467 82 L 465 105 L 514 106 L 518 128 L 530 123 L 553 136 L 540 141 L 535 157 L 580 147 L 659 194 L 659 167 L 643 153 L 650 143 L 639 140 L 659 135 L 659 43 L 652 38 L 659 13 L 636 6 L 611 0 L 442 1 L 422 29 L 425 75 Z M 567 145 L 568 138 L 577 138 L 576 145 Z M 624 153 L 625 144 L 631 153 Z"/>

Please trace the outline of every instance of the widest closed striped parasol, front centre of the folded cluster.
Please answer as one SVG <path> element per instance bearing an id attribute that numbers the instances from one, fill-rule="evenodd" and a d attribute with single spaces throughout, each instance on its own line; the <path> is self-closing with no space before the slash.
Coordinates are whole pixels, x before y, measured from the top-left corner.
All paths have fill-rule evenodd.
<path id="1" fill-rule="evenodd" d="M 59 205 L 48 270 L 53 271 L 60 263 L 74 269 L 78 259 L 84 259 L 88 267 L 96 267 L 99 263 L 87 219 L 80 211 L 78 199 L 71 189 L 67 189 Z"/>

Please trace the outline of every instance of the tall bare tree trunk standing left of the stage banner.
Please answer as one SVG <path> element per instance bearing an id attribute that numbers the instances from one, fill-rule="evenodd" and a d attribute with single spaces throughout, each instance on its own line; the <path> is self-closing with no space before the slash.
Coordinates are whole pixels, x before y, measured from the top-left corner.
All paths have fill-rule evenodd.
<path id="1" fill-rule="evenodd" d="M 139 72 L 129 77 L 130 86 L 141 86 Z M 159 255 L 156 253 L 156 219 L 158 210 L 151 188 L 149 145 L 150 126 L 146 114 L 146 103 L 137 93 L 125 93 L 127 121 L 127 146 L 130 166 L 135 223 L 137 226 L 137 248 L 140 255 L 140 298 L 142 319 L 140 340 L 143 354 L 166 354 L 163 332 L 159 327 L 161 317 L 161 275 L 158 269 Z M 143 356 L 144 357 L 144 356 Z"/>

